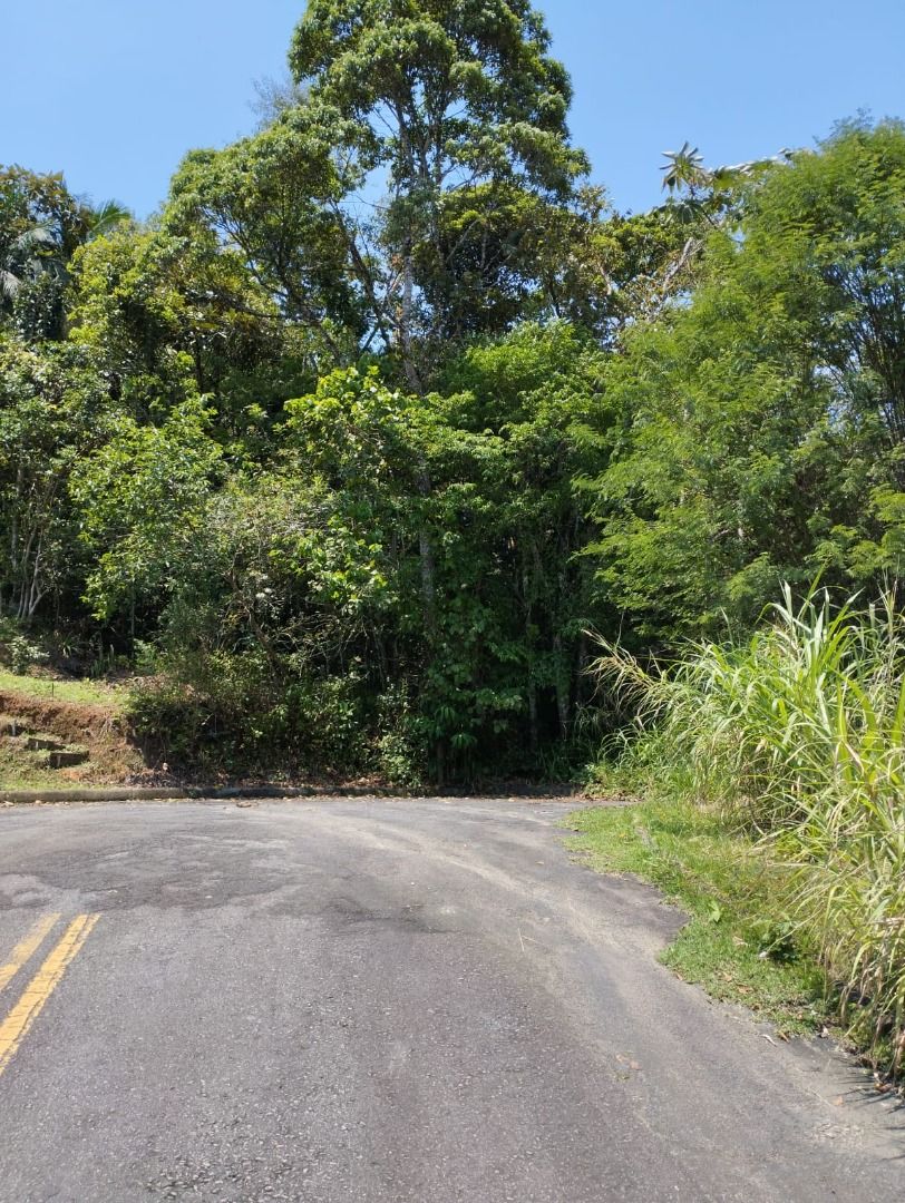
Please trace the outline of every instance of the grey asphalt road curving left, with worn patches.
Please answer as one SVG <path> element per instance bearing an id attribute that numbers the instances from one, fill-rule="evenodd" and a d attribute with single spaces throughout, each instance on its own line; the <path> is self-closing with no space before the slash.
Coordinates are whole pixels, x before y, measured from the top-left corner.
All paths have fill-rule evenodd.
<path id="1" fill-rule="evenodd" d="M 0 1199 L 905 1198 L 905 1118 L 708 1003 L 567 804 L 0 813 Z"/>

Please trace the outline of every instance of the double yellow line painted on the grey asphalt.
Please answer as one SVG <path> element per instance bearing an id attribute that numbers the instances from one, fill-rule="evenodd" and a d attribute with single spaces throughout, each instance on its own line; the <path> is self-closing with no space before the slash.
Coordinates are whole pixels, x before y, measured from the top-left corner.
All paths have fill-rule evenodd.
<path id="1" fill-rule="evenodd" d="M 59 920 L 59 914 L 46 914 L 31 928 L 24 940 L 13 948 L 10 960 L 0 965 L 0 990 L 4 990 L 19 970 L 34 956 Z M 60 978 L 75 960 L 91 932 L 99 914 L 78 914 L 64 931 L 61 938 L 47 954 L 41 968 L 25 986 L 22 997 L 6 1018 L 0 1021 L 0 1074 L 29 1033 L 43 1011 L 45 1003 L 57 989 Z"/>

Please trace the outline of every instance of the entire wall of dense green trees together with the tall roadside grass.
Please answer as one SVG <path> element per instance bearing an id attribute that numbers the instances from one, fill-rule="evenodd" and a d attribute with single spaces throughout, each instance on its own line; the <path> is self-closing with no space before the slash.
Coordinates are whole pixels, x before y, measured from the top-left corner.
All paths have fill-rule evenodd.
<path id="1" fill-rule="evenodd" d="M 0 170 L 7 659 L 136 674 L 195 772 L 562 776 L 640 705 L 625 771 L 900 1031 L 898 604 L 795 615 L 901 571 L 905 128 L 623 214 L 527 0 L 309 0 L 289 58 L 150 221 Z"/>

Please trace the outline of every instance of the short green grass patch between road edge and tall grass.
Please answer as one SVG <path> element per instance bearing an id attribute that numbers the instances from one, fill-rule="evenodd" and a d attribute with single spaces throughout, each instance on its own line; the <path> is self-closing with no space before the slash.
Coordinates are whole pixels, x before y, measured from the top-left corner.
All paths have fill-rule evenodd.
<path id="1" fill-rule="evenodd" d="M 774 909 L 775 875 L 716 816 L 674 801 L 570 814 L 568 846 L 601 872 L 659 887 L 690 921 L 661 960 L 686 982 L 743 1003 L 782 1036 L 820 1031 L 832 1008 L 814 952 Z"/>

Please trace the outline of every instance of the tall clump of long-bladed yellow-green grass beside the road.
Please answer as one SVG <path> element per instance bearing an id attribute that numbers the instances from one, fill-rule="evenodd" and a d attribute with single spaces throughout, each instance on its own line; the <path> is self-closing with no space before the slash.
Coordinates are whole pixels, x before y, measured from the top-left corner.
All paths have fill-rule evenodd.
<path id="1" fill-rule="evenodd" d="M 634 705 L 621 768 L 745 828 L 840 992 L 894 1072 L 905 1063 L 905 620 L 895 598 L 795 606 L 746 641 L 644 669 L 604 645 L 596 671 Z"/>

